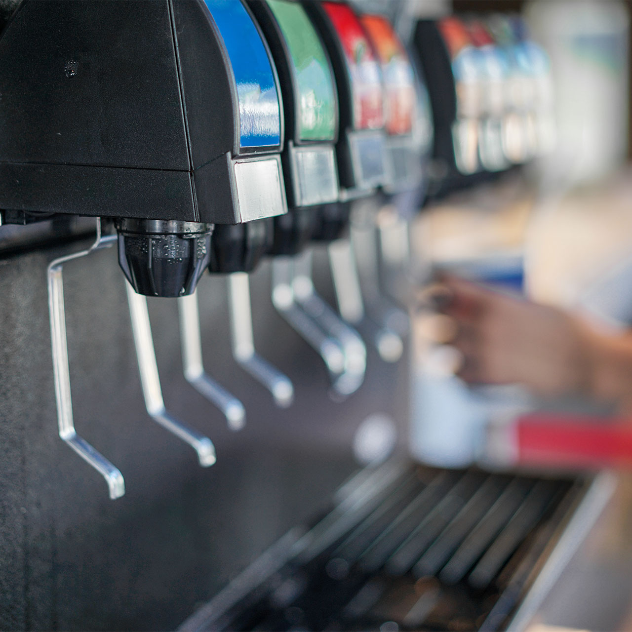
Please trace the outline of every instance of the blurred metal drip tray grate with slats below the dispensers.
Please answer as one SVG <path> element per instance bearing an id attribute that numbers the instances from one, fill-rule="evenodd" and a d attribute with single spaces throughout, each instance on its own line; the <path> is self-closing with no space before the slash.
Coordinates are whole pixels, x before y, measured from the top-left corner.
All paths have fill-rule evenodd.
<path id="1" fill-rule="evenodd" d="M 387 465 L 181 629 L 500 629 L 589 480 Z"/>

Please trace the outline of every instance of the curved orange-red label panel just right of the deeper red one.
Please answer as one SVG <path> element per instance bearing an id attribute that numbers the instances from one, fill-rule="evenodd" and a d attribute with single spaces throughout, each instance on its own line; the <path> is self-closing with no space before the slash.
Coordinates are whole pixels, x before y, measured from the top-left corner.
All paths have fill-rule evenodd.
<path id="1" fill-rule="evenodd" d="M 375 48 L 386 84 L 386 131 L 393 135 L 413 130 L 415 75 L 408 55 L 391 23 L 381 15 L 363 15 L 362 25 Z"/>

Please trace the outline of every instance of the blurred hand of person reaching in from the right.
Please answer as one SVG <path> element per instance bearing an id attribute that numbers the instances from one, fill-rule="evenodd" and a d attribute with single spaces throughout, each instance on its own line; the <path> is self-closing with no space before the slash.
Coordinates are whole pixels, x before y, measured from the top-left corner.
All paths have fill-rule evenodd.
<path id="1" fill-rule="evenodd" d="M 442 280 L 441 293 L 466 382 L 520 383 L 546 396 L 590 389 L 596 334 L 580 320 L 456 277 Z"/>

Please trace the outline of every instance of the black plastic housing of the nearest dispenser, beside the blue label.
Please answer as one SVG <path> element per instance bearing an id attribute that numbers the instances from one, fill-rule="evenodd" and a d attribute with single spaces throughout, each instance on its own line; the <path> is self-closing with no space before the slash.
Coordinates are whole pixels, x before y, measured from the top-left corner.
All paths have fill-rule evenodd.
<path id="1" fill-rule="evenodd" d="M 0 67 L 0 209 L 243 220 L 229 158 L 252 152 L 201 0 L 23 0 Z"/>

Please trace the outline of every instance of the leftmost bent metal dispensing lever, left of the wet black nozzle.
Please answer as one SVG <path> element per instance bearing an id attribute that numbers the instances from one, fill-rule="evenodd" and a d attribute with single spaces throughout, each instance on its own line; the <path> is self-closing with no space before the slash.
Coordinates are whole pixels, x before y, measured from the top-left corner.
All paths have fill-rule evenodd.
<path id="1" fill-rule="evenodd" d="M 87 461 L 106 479 L 112 500 L 125 494 L 123 475 L 110 461 L 82 439 L 75 430 L 73 403 L 70 392 L 70 367 L 68 364 L 68 338 L 66 336 L 66 313 L 64 309 L 63 266 L 73 259 L 85 257 L 101 248 L 109 248 L 116 242 L 116 233 L 107 233 L 107 228 L 97 217 L 97 238 L 87 250 L 76 252 L 51 261 L 47 270 L 48 307 L 51 320 L 52 370 L 55 382 L 55 400 L 59 437 L 82 459 Z"/>

